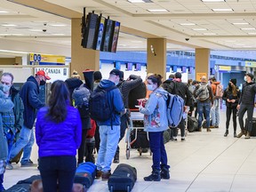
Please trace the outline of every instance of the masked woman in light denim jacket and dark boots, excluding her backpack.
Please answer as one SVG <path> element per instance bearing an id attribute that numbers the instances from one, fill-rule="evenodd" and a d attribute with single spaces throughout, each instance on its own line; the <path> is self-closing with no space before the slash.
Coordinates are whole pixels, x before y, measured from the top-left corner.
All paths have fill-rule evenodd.
<path id="1" fill-rule="evenodd" d="M 140 113 L 144 114 L 144 131 L 148 132 L 149 147 L 153 154 L 152 172 L 148 177 L 144 177 L 146 181 L 160 181 L 161 179 L 170 179 L 170 165 L 167 162 L 167 154 L 164 148 L 164 131 L 169 129 L 166 116 L 166 100 L 168 92 L 166 92 L 162 84 L 162 76 L 148 76 L 147 88 L 152 91 L 148 101 L 143 107 L 140 103 Z"/>

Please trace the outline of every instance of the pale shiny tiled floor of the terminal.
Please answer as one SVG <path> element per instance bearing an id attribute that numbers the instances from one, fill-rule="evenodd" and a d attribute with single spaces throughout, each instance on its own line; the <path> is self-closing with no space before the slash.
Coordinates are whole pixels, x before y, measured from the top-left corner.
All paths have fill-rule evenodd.
<path id="1" fill-rule="evenodd" d="M 137 168 L 138 180 L 133 192 L 175 191 L 175 192 L 254 192 L 256 191 L 256 138 L 251 140 L 233 137 L 233 126 L 229 128 L 227 138 L 225 132 L 225 112 L 220 111 L 220 128 L 212 132 L 191 132 L 185 142 L 169 141 L 165 147 L 171 167 L 171 180 L 146 182 L 143 180 L 151 172 L 151 156 L 133 149 L 130 159 L 125 158 L 125 143 L 121 141 L 124 153 L 121 163 L 131 164 Z M 238 123 L 238 122 L 237 122 Z M 239 132 L 239 125 L 238 125 Z M 32 160 L 36 162 L 36 145 Z M 18 180 L 28 178 L 39 172 L 36 168 L 20 168 L 7 170 L 4 175 L 4 187 L 9 188 Z M 112 170 L 116 168 L 113 164 Z M 108 182 L 95 180 L 89 192 L 108 191 Z"/>

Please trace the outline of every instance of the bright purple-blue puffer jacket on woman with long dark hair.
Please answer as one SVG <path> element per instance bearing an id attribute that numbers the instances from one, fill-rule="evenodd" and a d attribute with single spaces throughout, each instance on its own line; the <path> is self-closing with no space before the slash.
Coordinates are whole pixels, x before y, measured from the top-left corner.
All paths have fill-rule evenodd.
<path id="1" fill-rule="evenodd" d="M 56 124 L 45 118 L 48 108 L 40 108 L 36 118 L 36 144 L 39 157 L 76 156 L 82 140 L 82 124 L 76 108 L 67 106 L 64 122 Z"/>

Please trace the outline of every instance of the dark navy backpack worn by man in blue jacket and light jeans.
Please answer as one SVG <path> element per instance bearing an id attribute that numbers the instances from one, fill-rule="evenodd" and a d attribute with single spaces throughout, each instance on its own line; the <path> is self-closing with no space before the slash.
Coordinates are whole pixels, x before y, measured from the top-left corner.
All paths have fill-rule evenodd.
<path id="1" fill-rule="evenodd" d="M 108 92 L 114 89 L 117 89 L 116 85 L 106 89 L 98 86 L 92 92 L 89 99 L 89 112 L 93 120 L 105 122 L 111 118 L 113 109 L 108 105 Z"/>

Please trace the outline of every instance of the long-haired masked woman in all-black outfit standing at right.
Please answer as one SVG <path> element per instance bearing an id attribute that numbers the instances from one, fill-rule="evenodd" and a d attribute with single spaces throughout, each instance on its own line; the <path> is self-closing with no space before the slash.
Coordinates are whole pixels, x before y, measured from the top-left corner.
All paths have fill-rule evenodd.
<path id="1" fill-rule="evenodd" d="M 228 136 L 228 127 L 230 122 L 231 114 L 233 114 L 233 127 L 234 127 L 234 137 L 236 138 L 236 113 L 238 100 L 240 99 L 241 92 L 236 87 L 236 79 L 230 79 L 228 83 L 228 88 L 225 90 L 222 96 L 222 100 L 226 101 L 226 132 L 224 137 Z"/>

